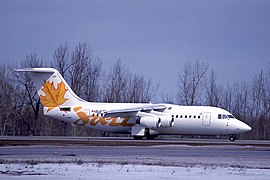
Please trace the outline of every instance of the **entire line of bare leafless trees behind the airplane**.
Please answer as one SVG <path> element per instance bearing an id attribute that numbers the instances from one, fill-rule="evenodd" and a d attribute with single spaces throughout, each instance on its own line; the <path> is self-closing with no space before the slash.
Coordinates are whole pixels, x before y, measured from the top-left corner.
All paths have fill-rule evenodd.
<path id="1" fill-rule="evenodd" d="M 28 55 L 19 68 L 54 67 L 78 96 L 92 102 L 150 102 L 160 96 L 157 84 L 131 72 L 121 60 L 108 72 L 102 65 L 86 43 L 79 43 L 74 50 L 60 44 L 49 63 L 35 54 Z M 0 135 L 104 135 L 44 116 L 31 77 L 14 73 L 14 68 L 18 67 L 0 65 Z M 176 77 L 177 93 L 163 94 L 159 99 L 164 103 L 227 109 L 253 128 L 240 138 L 270 139 L 270 69 L 261 71 L 251 82 L 226 86 L 219 85 L 214 71 L 209 69 L 205 62 L 187 61 Z"/>

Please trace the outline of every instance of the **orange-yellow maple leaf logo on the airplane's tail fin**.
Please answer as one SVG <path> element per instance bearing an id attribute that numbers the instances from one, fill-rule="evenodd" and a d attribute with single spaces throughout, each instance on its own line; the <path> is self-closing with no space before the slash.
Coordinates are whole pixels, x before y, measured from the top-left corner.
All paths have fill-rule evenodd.
<path id="1" fill-rule="evenodd" d="M 48 111 L 56 108 L 68 100 L 64 97 L 67 90 L 63 82 L 58 83 L 57 88 L 54 87 L 53 82 L 44 82 L 41 90 L 45 93 L 45 96 L 40 95 L 40 100 L 44 107 L 48 107 Z"/>

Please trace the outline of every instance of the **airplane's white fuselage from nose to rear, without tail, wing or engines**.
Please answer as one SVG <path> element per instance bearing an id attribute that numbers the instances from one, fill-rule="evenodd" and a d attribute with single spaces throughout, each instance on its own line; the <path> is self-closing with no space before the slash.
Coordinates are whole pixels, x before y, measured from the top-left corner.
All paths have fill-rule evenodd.
<path id="1" fill-rule="evenodd" d="M 138 118 L 136 113 L 119 113 L 117 116 L 102 117 L 104 111 L 111 109 L 133 108 L 144 104 L 130 103 L 89 103 L 82 102 L 76 106 L 70 107 L 70 111 L 50 111 L 45 112 L 46 115 L 75 124 L 78 126 L 86 126 L 98 130 L 130 133 L 132 127 L 135 126 Z M 200 135 L 229 135 L 240 134 L 251 130 L 245 123 L 234 118 L 231 113 L 226 110 L 208 107 L 208 106 L 179 106 L 172 104 L 163 104 L 167 108 L 162 112 L 150 111 L 147 114 L 153 114 L 158 117 L 166 117 L 174 121 L 172 127 L 155 127 L 151 128 L 154 134 L 200 134 Z M 74 109 L 81 107 L 78 111 Z M 85 113 L 88 117 L 85 121 L 78 121 L 78 113 Z M 219 115 L 226 115 L 225 118 L 218 118 Z M 228 115 L 231 117 L 228 117 Z M 126 118 L 128 123 L 123 123 Z"/>

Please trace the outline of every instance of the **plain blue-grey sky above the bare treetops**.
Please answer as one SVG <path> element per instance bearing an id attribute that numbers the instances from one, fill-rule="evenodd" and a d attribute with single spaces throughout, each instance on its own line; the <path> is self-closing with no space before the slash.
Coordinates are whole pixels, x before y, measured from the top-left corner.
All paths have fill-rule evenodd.
<path id="1" fill-rule="evenodd" d="M 270 65 L 270 0 L 0 0 L 0 61 L 36 53 L 51 61 L 67 42 L 86 42 L 103 67 L 126 67 L 175 91 L 187 60 L 218 81 L 247 81 Z"/>

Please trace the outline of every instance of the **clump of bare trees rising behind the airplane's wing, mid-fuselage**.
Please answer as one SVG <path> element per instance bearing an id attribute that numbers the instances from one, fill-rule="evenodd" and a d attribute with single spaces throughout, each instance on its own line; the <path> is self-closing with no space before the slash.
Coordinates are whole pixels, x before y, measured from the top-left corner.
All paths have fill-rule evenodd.
<path id="1" fill-rule="evenodd" d="M 143 76 L 132 74 L 118 60 L 105 78 L 103 101 L 105 102 L 150 102 L 158 86 Z"/>

